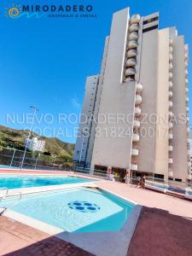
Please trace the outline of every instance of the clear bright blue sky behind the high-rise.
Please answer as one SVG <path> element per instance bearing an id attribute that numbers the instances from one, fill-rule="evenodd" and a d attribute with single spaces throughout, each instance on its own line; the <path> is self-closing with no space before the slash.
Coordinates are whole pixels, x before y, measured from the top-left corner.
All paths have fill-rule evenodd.
<path id="1" fill-rule="evenodd" d="M 44 129 L 44 121 L 36 122 L 35 127 L 47 136 L 57 135 L 58 129 L 67 131 L 66 137 L 58 136 L 67 142 L 75 143 L 71 131 L 77 125 L 59 124 L 58 115 L 80 113 L 86 76 L 100 71 L 113 12 L 127 6 L 131 7 L 131 14 L 160 11 L 160 27 L 177 26 L 178 34 L 184 34 L 186 43 L 192 45 L 192 1 L 189 0 L 81 1 L 84 5 L 93 5 L 97 15 L 94 19 L 22 17 L 12 20 L 4 15 L 4 7 L 11 3 L 9 0 L 0 3 L 0 125 L 27 128 L 29 125 L 26 119 L 22 121 L 22 116 L 30 113 L 29 106 L 34 105 L 39 108 L 39 118 L 46 113 L 54 118 L 49 130 Z M 14 3 L 26 4 L 27 1 Z M 78 0 L 33 0 L 31 3 L 80 4 Z M 190 47 L 189 51 L 191 59 Z M 189 84 L 191 76 L 189 67 Z M 190 94 L 189 88 L 189 100 Z M 10 121 L 7 124 L 7 114 L 17 114 L 20 124 Z M 49 114 L 46 117 L 50 120 Z"/>

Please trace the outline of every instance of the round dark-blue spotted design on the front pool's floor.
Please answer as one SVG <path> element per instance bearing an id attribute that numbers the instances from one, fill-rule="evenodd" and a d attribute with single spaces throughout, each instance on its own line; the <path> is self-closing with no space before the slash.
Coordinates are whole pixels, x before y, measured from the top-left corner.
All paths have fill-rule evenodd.
<path id="1" fill-rule="evenodd" d="M 98 212 L 100 207 L 89 201 L 71 201 L 68 207 L 79 212 Z"/>

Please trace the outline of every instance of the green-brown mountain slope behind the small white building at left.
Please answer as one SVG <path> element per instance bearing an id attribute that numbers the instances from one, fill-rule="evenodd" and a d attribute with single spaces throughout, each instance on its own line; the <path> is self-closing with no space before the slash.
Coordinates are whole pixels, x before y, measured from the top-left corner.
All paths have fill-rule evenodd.
<path id="1" fill-rule="evenodd" d="M 0 125 L 0 146 L 24 150 L 24 143 L 28 134 L 29 131 L 27 130 L 15 130 Z M 44 154 L 72 159 L 74 150 L 73 143 L 64 143 L 56 137 L 42 137 L 35 132 L 32 132 L 32 137 L 38 137 L 39 140 L 45 141 Z"/>

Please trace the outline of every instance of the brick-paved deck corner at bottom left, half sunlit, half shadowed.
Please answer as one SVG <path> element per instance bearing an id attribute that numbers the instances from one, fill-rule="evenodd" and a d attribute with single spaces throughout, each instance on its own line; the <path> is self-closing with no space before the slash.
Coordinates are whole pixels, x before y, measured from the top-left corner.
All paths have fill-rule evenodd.
<path id="1" fill-rule="evenodd" d="M 25 224 L 0 217 L 1 256 L 91 256 L 79 247 Z"/>

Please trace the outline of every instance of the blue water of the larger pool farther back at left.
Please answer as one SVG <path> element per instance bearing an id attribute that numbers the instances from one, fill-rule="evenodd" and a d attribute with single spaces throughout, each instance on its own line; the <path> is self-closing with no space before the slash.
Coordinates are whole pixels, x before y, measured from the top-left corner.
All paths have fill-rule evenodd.
<path id="1" fill-rule="evenodd" d="M 85 183 L 93 180 L 73 176 L 0 175 L 0 188 L 18 189 L 71 183 Z"/>

